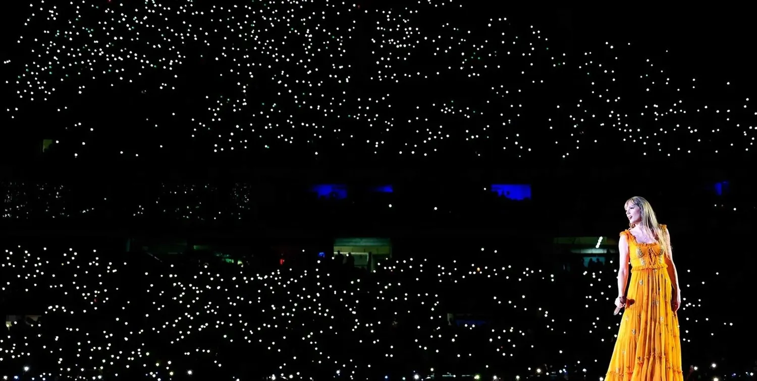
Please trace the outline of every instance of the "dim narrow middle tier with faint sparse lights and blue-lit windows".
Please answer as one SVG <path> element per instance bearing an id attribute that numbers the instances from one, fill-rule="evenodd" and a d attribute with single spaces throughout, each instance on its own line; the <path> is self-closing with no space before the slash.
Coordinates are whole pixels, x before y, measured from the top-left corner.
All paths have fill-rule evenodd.
<path id="1" fill-rule="evenodd" d="M 434 184 L 438 187 L 437 184 Z M 727 196 L 731 192 L 732 184 L 721 181 L 711 185 L 712 194 Z M 748 185 L 747 185 L 748 186 Z M 45 181 L 0 181 L 0 220 L 14 219 L 33 221 L 38 218 L 84 218 L 103 221 L 101 218 L 132 218 L 154 219 L 161 218 L 172 221 L 253 221 L 260 218 L 260 209 L 266 204 L 276 205 L 280 211 L 289 208 L 298 215 L 310 215 L 312 218 L 322 218 L 323 207 L 333 208 L 335 205 L 316 203 L 316 194 L 320 198 L 331 198 L 335 186 L 320 184 L 309 188 L 281 187 L 274 193 L 266 194 L 257 189 L 257 185 L 245 182 L 233 182 L 226 185 L 187 181 L 185 183 L 161 182 L 143 185 L 139 190 L 124 192 L 121 184 L 116 185 L 86 185 L 64 184 Z M 377 200 L 360 200 L 350 198 L 345 187 L 337 188 L 340 197 L 347 195 L 352 206 L 351 212 L 378 213 L 378 215 L 397 215 L 410 213 L 414 215 L 433 216 L 440 221 L 441 213 L 450 214 L 452 218 L 459 215 L 473 215 L 476 210 L 491 208 L 507 208 L 520 204 L 507 203 L 503 200 L 530 200 L 531 186 L 528 184 L 491 184 L 477 188 L 474 185 L 465 187 L 460 194 L 460 188 L 449 196 L 445 186 L 439 191 L 422 194 L 416 190 L 403 188 L 394 191 L 391 185 L 369 187 L 369 191 L 384 197 Z M 743 188 L 743 184 L 737 185 Z M 361 190 L 361 187 L 355 189 Z M 686 190 L 689 191 L 689 190 Z M 315 193 L 313 193 L 315 192 Z M 280 198 L 288 194 L 289 198 Z M 124 198 L 126 197 L 126 199 Z M 276 201 L 274 201 L 276 200 Z M 286 200 L 286 201 L 282 201 Z M 540 201 L 537 201 L 540 203 Z M 751 218 L 755 206 L 751 200 L 725 200 L 717 198 L 712 203 L 702 202 L 700 207 L 706 207 L 707 213 L 727 213 L 722 218 Z M 478 218 L 478 217 L 476 217 Z M 122 220 L 123 221 L 123 220 Z"/>

